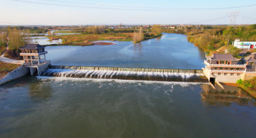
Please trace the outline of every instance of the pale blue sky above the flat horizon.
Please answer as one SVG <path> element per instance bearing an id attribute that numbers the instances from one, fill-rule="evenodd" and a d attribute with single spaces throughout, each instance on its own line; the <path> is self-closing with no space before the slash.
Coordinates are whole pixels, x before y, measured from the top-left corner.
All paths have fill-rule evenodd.
<path id="1" fill-rule="evenodd" d="M 0 25 L 256 24 L 255 0 L 0 0 Z M 253 6 L 248 6 L 253 5 Z M 232 8 L 246 6 L 242 8 Z M 224 8 L 224 9 L 220 9 Z"/>

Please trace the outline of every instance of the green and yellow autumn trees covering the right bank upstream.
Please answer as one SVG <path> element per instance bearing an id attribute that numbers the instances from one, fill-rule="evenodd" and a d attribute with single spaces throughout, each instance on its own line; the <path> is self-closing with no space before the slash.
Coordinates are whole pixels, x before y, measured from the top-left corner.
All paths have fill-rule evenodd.
<path id="1" fill-rule="evenodd" d="M 232 45 L 236 38 L 241 41 L 256 41 L 256 24 L 250 26 L 186 26 L 182 29 L 165 29 L 163 33 L 187 34 L 188 41 L 206 52 Z"/>

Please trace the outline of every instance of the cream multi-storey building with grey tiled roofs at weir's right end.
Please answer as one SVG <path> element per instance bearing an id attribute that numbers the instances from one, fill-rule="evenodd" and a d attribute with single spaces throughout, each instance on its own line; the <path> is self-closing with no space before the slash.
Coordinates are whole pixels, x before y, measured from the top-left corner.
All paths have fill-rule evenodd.
<path id="1" fill-rule="evenodd" d="M 212 54 L 205 57 L 202 70 L 209 81 L 236 83 L 256 75 L 256 60 L 252 56 L 237 59 L 232 54 Z"/>

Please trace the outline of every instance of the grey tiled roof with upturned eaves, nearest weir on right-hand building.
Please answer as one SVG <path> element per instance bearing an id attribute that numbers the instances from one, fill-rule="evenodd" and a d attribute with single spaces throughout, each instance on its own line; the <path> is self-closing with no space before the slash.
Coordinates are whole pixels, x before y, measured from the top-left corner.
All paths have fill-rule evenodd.
<path id="1" fill-rule="evenodd" d="M 232 54 L 212 54 L 212 56 L 206 56 L 207 59 L 221 60 L 221 61 L 239 61 L 240 59 L 235 58 Z"/>

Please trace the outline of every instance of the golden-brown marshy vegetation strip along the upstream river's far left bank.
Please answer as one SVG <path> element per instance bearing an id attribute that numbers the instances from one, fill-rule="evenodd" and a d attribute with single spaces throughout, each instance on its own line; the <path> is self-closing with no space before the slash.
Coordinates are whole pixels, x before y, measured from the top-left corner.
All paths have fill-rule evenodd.
<path id="1" fill-rule="evenodd" d="M 90 41 L 96 40 L 133 41 L 134 43 L 138 43 L 143 40 L 148 40 L 161 36 L 161 26 L 154 25 L 153 27 L 154 29 L 152 29 L 152 33 L 147 33 L 147 31 L 143 30 L 142 27 L 140 27 L 140 29 L 106 29 L 104 26 L 89 26 L 81 29 L 55 32 L 81 34 L 56 36 L 49 33 L 49 36 L 47 37 L 52 40 L 60 38 L 62 40 L 62 44 L 58 45 L 88 46 L 93 45 L 93 43 Z"/>

